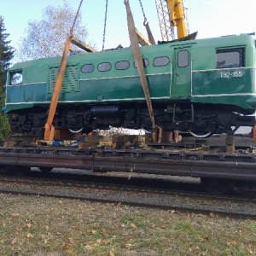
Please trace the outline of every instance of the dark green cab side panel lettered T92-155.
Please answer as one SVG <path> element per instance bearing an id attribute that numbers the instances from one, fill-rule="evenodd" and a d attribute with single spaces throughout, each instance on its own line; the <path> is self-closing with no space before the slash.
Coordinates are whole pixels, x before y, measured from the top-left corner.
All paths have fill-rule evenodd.
<path id="1" fill-rule="evenodd" d="M 252 108 L 246 102 L 254 93 L 253 68 L 226 68 L 192 74 L 192 102 L 221 103 Z"/>

